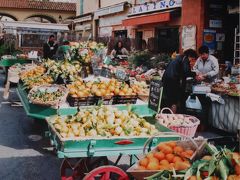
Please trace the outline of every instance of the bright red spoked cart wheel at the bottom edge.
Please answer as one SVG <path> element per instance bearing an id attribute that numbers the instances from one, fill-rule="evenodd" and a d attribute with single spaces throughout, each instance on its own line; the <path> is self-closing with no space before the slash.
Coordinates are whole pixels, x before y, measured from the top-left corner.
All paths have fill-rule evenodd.
<path id="1" fill-rule="evenodd" d="M 89 172 L 83 180 L 95 180 L 98 177 L 100 180 L 129 180 L 128 175 L 116 166 L 101 166 Z"/>

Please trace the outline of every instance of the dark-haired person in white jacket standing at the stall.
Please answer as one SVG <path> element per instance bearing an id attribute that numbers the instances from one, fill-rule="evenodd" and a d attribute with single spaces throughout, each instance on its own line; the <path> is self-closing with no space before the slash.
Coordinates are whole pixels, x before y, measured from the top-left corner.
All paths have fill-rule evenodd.
<path id="1" fill-rule="evenodd" d="M 218 59 L 209 54 L 207 46 L 201 46 L 198 52 L 200 56 L 193 67 L 197 74 L 196 79 L 198 81 L 214 81 L 219 73 Z"/>

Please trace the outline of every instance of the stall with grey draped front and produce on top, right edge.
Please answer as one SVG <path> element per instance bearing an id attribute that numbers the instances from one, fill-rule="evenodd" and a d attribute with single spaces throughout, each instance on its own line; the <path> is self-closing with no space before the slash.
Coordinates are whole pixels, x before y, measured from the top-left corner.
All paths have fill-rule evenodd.
<path id="1" fill-rule="evenodd" d="M 222 81 L 212 86 L 212 92 L 221 96 L 224 104 L 212 102 L 210 123 L 213 127 L 222 129 L 226 132 L 237 133 L 240 129 L 239 75 L 232 76 L 231 78 L 225 77 L 225 82 Z"/>

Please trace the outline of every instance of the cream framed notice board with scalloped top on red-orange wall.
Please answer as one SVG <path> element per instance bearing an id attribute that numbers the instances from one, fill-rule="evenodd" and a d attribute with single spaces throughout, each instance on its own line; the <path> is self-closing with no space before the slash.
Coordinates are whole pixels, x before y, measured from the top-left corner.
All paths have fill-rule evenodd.
<path id="1" fill-rule="evenodd" d="M 183 26 L 182 29 L 182 49 L 196 49 L 196 26 Z"/>

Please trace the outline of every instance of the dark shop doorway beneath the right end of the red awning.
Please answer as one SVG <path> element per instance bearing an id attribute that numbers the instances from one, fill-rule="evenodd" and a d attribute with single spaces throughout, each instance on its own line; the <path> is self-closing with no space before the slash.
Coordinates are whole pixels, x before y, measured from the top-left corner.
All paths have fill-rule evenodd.
<path id="1" fill-rule="evenodd" d="M 158 53 L 171 54 L 179 51 L 178 28 L 157 29 L 157 51 Z"/>

